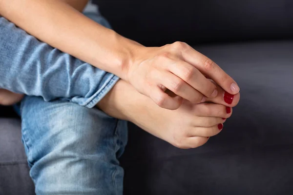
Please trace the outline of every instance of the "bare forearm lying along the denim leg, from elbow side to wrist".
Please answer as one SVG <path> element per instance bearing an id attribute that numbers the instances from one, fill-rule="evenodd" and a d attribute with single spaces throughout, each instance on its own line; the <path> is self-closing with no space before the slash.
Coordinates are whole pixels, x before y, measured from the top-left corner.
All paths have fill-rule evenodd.
<path id="1" fill-rule="evenodd" d="M 0 0 L 0 15 L 49 45 L 123 79 L 138 47 L 60 0 Z"/>

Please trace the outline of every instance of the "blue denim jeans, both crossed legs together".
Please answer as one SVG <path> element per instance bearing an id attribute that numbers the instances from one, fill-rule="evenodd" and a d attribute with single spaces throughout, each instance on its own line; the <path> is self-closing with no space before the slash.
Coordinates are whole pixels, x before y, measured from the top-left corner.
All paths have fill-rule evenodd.
<path id="1" fill-rule="evenodd" d="M 21 101 L 22 141 L 36 194 L 122 195 L 127 123 L 92 108 L 119 78 L 4 18 L 0 43 L 0 88 L 29 95 Z"/>

